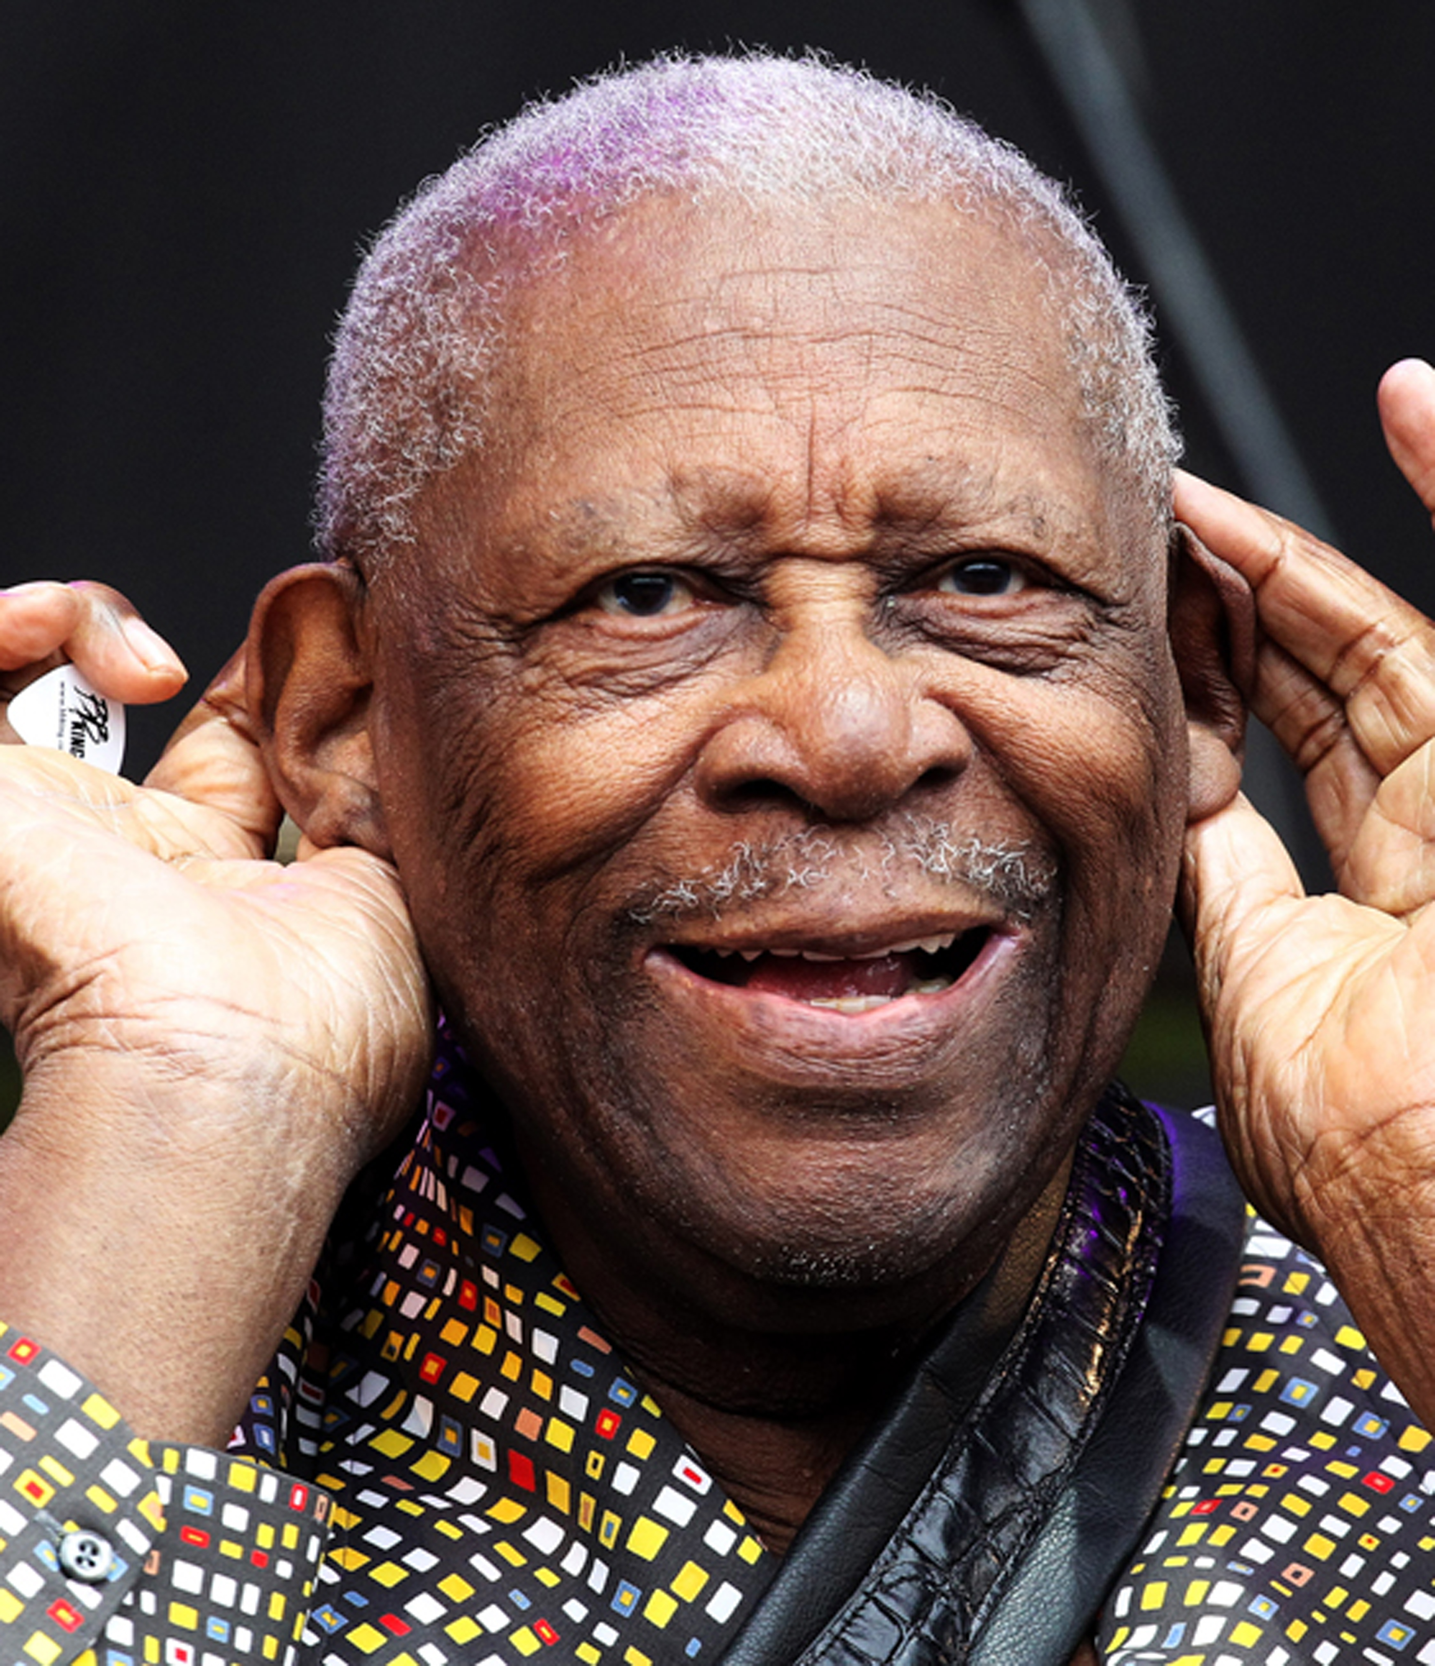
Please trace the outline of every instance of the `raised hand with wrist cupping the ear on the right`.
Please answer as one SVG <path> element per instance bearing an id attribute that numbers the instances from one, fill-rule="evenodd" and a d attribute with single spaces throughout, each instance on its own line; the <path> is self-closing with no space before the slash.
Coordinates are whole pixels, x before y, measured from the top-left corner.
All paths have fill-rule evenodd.
<path id="1" fill-rule="evenodd" d="M 1387 372 L 1392 455 L 1435 511 L 1435 370 Z M 1239 568 L 1252 710 L 1305 776 L 1338 895 L 1307 896 L 1242 798 L 1187 840 L 1220 1126 L 1247 1193 L 1318 1254 L 1435 1423 L 1435 626 L 1335 550 L 1190 476 L 1180 520 Z"/>

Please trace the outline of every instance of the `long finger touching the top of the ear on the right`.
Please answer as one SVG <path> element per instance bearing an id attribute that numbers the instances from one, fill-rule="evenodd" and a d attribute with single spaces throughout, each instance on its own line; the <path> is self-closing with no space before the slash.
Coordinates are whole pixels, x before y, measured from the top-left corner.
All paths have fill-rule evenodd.
<path id="1" fill-rule="evenodd" d="M 1255 591 L 1260 625 L 1345 705 L 1387 775 L 1435 736 L 1435 626 L 1293 521 L 1179 471 L 1177 516 Z"/>

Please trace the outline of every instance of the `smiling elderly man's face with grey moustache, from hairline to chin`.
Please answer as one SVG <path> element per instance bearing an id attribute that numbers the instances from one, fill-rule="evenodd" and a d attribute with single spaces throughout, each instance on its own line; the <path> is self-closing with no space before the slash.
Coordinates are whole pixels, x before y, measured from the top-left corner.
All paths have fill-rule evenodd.
<path id="1" fill-rule="evenodd" d="M 1115 1065 L 1185 788 L 1160 551 L 1032 257 L 648 203 L 508 320 L 373 606 L 441 998 L 559 1241 L 959 1291 Z"/>

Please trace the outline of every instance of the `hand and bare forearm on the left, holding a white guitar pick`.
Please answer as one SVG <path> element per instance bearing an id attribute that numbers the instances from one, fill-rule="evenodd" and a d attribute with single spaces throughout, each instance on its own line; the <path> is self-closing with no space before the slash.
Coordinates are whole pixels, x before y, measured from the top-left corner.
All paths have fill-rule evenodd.
<path id="1" fill-rule="evenodd" d="M 0 593 L 0 693 L 58 658 L 120 700 L 183 680 L 113 591 Z M 393 870 L 268 860 L 280 806 L 241 690 L 231 663 L 145 786 L 0 748 L 0 1020 L 25 1071 L 0 1313 L 138 1433 L 210 1444 L 410 1110 L 431 1028 Z"/>

